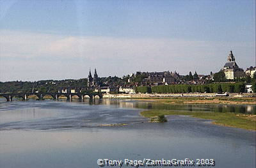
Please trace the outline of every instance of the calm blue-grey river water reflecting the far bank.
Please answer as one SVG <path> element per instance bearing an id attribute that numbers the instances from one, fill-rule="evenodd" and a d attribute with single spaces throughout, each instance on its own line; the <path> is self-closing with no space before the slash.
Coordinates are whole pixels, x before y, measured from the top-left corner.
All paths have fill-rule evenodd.
<path id="1" fill-rule="evenodd" d="M 256 107 L 115 99 L 2 100 L 0 167 L 99 167 L 97 160 L 105 158 L 123 162 L 213 159 L 215 166 L 206 167 L 255 167 L 255 132 L 188 116 L 167 116 L 166 123 L 148 123 L 140 116 L 143 109 L 255 114 Z"/>

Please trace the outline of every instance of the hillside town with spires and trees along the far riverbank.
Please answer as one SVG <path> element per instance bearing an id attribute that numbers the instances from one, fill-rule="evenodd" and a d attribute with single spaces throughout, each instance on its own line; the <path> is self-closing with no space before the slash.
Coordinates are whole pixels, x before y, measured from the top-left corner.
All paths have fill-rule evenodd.
<path id="1" fill-rule="evenodd" d="M 189 86 L 187 89 L 175 89 L 169 91 L 173 93 L 179 92 L 255 92 L 255 72 L 256 66 L 250 66 L 244 71 L 237 63 L 235 56 L 230 50 L 227 56 L 227 62 L 223 63 L 220 72 L 209 73 L 209 75 L 201 75 L 189 72 L 188 75 L 180 75 L 178 72 L 135 72 L 124 77 L 99 77 L 96 68 L 93 76 L 89 70 L 87 79 L 67 79 L 67 80 L 39 80 L 37 82 L 0 82 L 0 93 L 17 93 L 17 92 L 49 92 L 49 93 L 81 93 L 83 91 L 101 92 L 101 93 L 148 93 L 152 90 L 148 88 L 156 86 Z M 239 83 L 240 89 L 235 90 Z M 243 87 L 241 86 L 243 83 Z M 222 89 L 211 89 L 211 84 L 229 84 L 230 86 L 221 86 Z M 255 84 L 254 84 L 255 85 Z M 204 89 L 191 89 L 191 86 L 202 86 Z M 144 87 L 143 89 L 138 89 Z M 146 87 L 146 89 L 145 89 Z M 208 87 L 208 89 L 205 89 Z M 220 86 L 219 86 L 220 87 Z M 229 88 L 229 89 L 223 89 Z M 195 87 L 194 87 L 195 88 Z M 165 91 L 165 92 L 169 92 Z M 161 91 L 161 93 L 164 91 Z"/>

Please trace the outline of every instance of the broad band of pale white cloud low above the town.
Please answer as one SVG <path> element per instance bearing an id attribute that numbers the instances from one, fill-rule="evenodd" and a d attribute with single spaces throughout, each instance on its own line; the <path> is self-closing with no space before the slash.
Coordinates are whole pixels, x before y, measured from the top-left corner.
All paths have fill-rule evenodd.
<path id="1" fill-rule="evenodd" d="M 255 43 L 65 36 L 8 30 L 0 30 L 0 34 L 1 81 L 84 78 L 89 66 L 97 67 L 101 76 L 121 76 L 138 70 L 216 72 L 225 63 L 230 46 L 241 61 L 238 61 L 240 66 L 253 66 L 251 63 L 255 61 Z M 8 71 L 10 66 L 12 71 Z"/>

